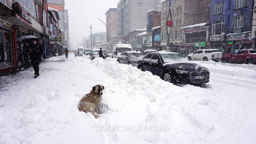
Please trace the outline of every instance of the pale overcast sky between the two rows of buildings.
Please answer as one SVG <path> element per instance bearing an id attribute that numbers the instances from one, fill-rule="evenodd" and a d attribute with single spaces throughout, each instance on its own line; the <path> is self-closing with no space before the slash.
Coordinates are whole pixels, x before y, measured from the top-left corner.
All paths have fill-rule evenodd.
<path id="1" fill-rule="evenodd" d="M 106 26 L 98 20 L 106 23 L 105 13 L 109 8 L 117 8 L 118 0 L 65 0 L 65 9 L 69 15 L 69 37 L 71 48 L 78 47 L 78 39 L 88 37 L 90 24 L 92 33 L 106 32 Z"/>

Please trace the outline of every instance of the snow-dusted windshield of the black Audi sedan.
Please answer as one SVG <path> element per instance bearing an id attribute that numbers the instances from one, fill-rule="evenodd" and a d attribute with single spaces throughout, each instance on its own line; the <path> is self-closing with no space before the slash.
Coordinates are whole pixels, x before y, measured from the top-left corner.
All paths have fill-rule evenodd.
<path id="1" fill-rule="evenodd" d="M 161 54 L 164 63 L 174 63 L 174 62 L 189 62 L 184 56 L 180 54 Z"/>

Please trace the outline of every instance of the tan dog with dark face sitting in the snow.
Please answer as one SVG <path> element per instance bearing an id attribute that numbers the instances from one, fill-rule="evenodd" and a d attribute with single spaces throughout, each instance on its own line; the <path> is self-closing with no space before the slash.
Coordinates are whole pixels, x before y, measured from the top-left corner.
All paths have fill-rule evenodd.
<path id="1" fill-rule="evenodd" d="M 96 85 L 90 91 L 90 93 L 86 94 L 82 99 L 79 101 L 78 109 L 79 111 L 83 111 L 85 113 L 92 113 L 95 118 L 99 118 L 100 109 L 99 103 L 102 100 L 102 90 L 104 90 L 104 86 Z M 99 112 L 100 111 L 100 112 Z"/>

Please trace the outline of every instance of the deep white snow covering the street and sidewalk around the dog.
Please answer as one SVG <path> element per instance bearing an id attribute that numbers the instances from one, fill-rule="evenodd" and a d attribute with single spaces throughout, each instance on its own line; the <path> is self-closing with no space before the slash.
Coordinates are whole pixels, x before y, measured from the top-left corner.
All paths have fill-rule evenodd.
<path id="1" fill-rule="evenodd" d="M 0 77 L 0 143 L 255 143 L 256 66 L 193 62 L 209 69 L 206 88 L 74 54 L 40 63 L 36 79 L 32 67 Z M 98 119 L 77 108 L 96 84 L 105 87 Z M 166 132 L 98 132 L 95 125 L 161 125 Z"/>

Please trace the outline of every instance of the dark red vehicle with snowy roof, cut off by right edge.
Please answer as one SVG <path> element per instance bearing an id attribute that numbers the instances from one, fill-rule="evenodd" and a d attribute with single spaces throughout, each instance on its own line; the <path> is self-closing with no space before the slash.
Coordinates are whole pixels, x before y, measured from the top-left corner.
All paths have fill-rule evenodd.
<path id="1" fill-rule="evenodd" d="M 241 49 L 232 52 L 231 54 L 226 54 L 221 57 L 221 62 L 223 63 L 247 63 L 256 64 L 256 50 L 255 49 Z"/>

